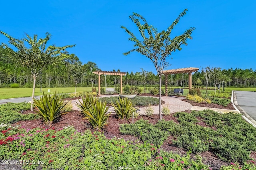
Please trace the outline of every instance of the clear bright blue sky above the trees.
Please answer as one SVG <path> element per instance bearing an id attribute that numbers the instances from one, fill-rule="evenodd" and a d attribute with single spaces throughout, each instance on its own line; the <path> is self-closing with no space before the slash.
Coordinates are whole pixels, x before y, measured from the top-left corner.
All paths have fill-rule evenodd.
<path id="1" fill-rule="evenodd" d="M 83 63 L 92 61 L 102 70 L 136 72 L 144 68 L 156 73 L 150 59 L 138 53 L 124 56 L 133 48 L 124 25 L 139 37 L 129 19 L 136 12 L 158 31 L 168 26 L 185 8 L 187 14 L 172 31 L 172 37 L 196 27 L 192 40 L 182 51 L 172 53 L 166 69 L 206 66 L 256 70 L 256 0 L 43 0 L 3 1 L 0 30 L 12 37 L 24 33 L 44 37 L 48 45 L 76 44 L 68 49 Z M 0 42 L 8 39 L 0 35 Z"/>

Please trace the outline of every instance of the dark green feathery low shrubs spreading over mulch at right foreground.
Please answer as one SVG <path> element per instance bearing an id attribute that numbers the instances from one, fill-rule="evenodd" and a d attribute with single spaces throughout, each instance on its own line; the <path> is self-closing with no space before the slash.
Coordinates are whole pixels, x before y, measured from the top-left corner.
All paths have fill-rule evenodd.
<path id="1" fill-rule="evenodd" d="M 161 145 L 172 135 L 172 143 L 193 153 L 210 150 L 224 161 L 244 162 L 256 150 L 256 129 L 240 114 L 219 114 L 212 110 L 175 113 L 178 123 L 158 121 L 155 125 L 140 120 L 123 124 L 120 132 L 138 136 L 142 141 Z M 198 120 L 200 118 L 200 121 Z M 199 122 L 206 125 L 200 126 Z M 156 140 L 158 139 L 158 140 Z"/>

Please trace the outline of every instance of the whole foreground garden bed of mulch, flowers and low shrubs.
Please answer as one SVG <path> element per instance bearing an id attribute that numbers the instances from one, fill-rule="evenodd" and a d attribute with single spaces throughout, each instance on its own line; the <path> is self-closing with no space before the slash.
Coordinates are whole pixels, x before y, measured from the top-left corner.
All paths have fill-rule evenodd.
<path id="1" fill-rule="evenodd" d="M 28 104 L 1 107 L 10 107 L 10 117 L 30 117 L 19 109 Z M 186 111 L 163 115 L 163 121 L 138 116 L 134 124 L 110 115 L 101 132 L 94 132 L 80 111 L 62 115 L 51 128 L 32 115 L 34 120 L 1 124 L 1 160 L 45 163 L 23 164 L 28 169 L 255 169 L 250 158 L 256 158 L 256 129 L 238 114 Z"/>

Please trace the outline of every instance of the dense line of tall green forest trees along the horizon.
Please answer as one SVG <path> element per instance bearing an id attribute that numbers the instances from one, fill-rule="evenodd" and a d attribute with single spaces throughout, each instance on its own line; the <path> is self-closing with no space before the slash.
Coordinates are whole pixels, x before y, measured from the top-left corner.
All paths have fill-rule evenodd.
<path id="1" fill-rule="evenodd" d="M 80 65 L 81 68 L 81 74 L 78 74 L 78 77 L 72 74 L 74 64 Z M 47 69 L 42 70 L 41 74 L 36 78 L 36 87 L 40 87 L 40 80 L 42 81 L 42 87 L 73 87 L 75 86 L 75 82 L 77 82 L 78 87 L 97 86 L 98 75 L 92 73 L 96 70 L 100 70 L 96 63 L 88 61 L 88 63 L 82 64 L 78 57 L 70 55 L 68 59 L 64 59 L 62 62 L 56 65 L 50 65 Z M 224 75 L 226 78 L 223 80 L 219 78 L 218 84 L 233 87 L 256 86 L 256 70 L 252 70 L 252 68 L 229 68 L 228 70 L 220 69 L 219 71 L 219 77 Z M 144 70 L 144 73 L 147 73 L 146 78 L 145 74 L 143 75 L 143 71 L 127 72 L 126 76 L 122 78 L 123 84 L 144 86 L 145 80 L 146 86 L 155 86 L 159 83 L 157 75 L 148 70 Z M 101 76 L 101 79 L 101 86 L 114 86 L 115 80 L 117 80 L 117 84 L 120 84 L 120 76 L 107 75 L 106 80 L 105 76 Z M 162 83 L 164 85 L 164 81 Z M 16 86 L 18 84 L 19 87 L 32 88 L 33 78 L 27 68 L 17 64 L 12 59 L 10 53 L 4 47 L 0 46 L 0 88 L 8 88 L 12 84 L 16 84 Z M 194 72 L 192 75 L 192 84 L 192 86 L 199 88 L 206 86 L 204 70 Z M 212 78 L 208 86 L 214 86 L 214 84 L 216 84 L 216 80 Z M 188 74 L 168 75 L 168 86 L 188 86 Z"/>

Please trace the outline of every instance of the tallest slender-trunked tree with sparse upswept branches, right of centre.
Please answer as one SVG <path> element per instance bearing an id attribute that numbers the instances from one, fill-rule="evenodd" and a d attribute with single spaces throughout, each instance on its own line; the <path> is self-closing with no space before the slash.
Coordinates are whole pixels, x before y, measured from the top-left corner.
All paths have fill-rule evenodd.
<path id="1" fill-rule="evenodd" d="M 172 52 L 176 50 L 181 50 L 181 45 L 186 43 L 188 38 L 191 38 L 192 31 L 194 31 L 194 27 L 190 27 L 187 29 L 182 35 L 178 35 L 171 39 L 170 34 L 174 26 L 179 22 L 180 18 L 186 14 L 187 9 L 185 9 L 178 18 L 167 28 L 166 31 L 158 32 L 155 27 L 149 25 L 148 22 L 140 16 L 139 14 L 133 13 L 129 18 L 136 24 L 140 31 L 141 40 L 139 40 L 131 31 L 129 31 L 126 27 L 121 26 L 129 35 L 130 38 L 128 40 L 133 41 L 134 49 L 124 53 L 124 55 L 128 55 L 131 52 L 138 52 L 146 57 L 148 57 L 156 68 L 156 72 L 159 76 L 159 101 L 161 103 L 161 84 L 162 84 L 162 71 L 166 66 L 168 66 L 168 62 L 166 58 L 171 55 Z M 161 104 L 159 105 L 159 117 L 162 119 L 161 115 Z"/>

